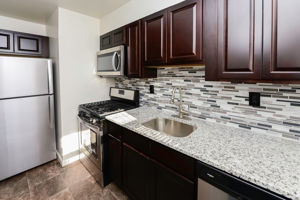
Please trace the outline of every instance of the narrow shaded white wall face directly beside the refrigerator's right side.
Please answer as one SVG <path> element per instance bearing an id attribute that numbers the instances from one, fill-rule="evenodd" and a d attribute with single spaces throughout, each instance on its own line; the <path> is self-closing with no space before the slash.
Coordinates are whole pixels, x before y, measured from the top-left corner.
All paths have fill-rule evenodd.
<path id="1" fill-rule="evenodd" d="M 46 36 L 49 37 L 49 54 L 52 59 L 53 68 L 53 90 L 55 109 L 55 141 L 57 154 L 62 159 L 61 146 L 61 108 L 60 108 L 60 85 L 59 85 L 59 46 L 58 46 L 58 9 L 55 10 L 49 21 L 46 23 Z"/>

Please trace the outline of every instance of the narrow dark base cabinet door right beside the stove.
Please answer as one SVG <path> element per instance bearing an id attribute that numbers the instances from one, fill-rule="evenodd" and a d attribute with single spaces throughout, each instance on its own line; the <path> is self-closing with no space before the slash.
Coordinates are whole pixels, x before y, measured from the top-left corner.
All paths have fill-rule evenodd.
<path id="1" fill-rule="evenodd" d="M 110 176 L 122 187 L 122 142 L 109 135 Z"/>

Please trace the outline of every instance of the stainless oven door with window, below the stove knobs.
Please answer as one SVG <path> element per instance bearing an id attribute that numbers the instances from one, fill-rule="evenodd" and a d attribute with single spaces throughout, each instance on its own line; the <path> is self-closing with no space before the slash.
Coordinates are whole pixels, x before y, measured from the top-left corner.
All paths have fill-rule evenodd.
<path id="1" fill-rule="evenodd" d="M 103 127 L 97 127 L 78 118 L 80 150 L 102 171 L 103 163 Z"/>

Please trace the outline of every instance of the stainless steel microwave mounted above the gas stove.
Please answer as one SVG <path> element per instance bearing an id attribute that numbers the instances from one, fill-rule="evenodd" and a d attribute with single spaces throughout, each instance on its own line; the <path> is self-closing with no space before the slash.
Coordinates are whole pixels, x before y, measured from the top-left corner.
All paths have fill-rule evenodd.
<path id="1" fill-rule="evenodd" d="M 96 74 L 100 76 L 125 76 L 124 45 L 104 49 L 97 52 Z"/>

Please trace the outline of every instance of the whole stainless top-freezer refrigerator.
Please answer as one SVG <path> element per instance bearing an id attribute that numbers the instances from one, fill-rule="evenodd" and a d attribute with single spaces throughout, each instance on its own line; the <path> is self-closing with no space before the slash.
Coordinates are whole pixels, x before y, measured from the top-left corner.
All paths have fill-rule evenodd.
<path id="1" fill-rule="evenodd" d="M 55 158 L 52 60 L 0 56 L 0 180 Z"/>

